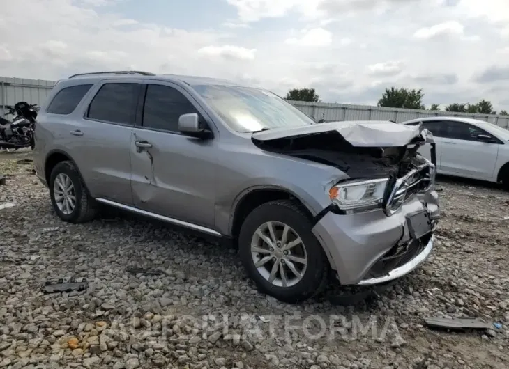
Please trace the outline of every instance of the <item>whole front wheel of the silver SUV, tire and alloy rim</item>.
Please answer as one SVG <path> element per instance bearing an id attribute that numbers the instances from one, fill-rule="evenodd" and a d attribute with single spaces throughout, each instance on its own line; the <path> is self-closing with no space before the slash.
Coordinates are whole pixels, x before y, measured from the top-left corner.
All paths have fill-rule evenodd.
<path id="1" fill-rule="evenodd" d="M 296 303 L 325 287 L 328 260 L 295 201 L 271 201 L 254 209 L 238 242 L 243 265 L 261 292 Z"/>

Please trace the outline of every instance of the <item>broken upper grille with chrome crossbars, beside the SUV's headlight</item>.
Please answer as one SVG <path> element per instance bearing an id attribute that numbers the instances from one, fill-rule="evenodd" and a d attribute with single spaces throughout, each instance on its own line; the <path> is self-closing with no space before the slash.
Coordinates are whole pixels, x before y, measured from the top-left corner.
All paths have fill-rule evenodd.
<path id="1" fill-rule="evenodd" d="M 405 201 L 430 189 L 434 182 L 434 175 L 435 166 L 427 162 L 397 179 L 385 201 L 386 213 L 393 214 Z"/>

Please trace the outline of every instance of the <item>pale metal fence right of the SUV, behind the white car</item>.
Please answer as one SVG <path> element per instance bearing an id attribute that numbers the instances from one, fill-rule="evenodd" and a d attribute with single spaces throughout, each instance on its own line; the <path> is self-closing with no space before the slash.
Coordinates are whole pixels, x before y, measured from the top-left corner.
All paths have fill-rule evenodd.
<path id="1" fill-rule="evenodd" d="M 340 120 L 394 120 L 397 123 L 429 116 L 462 116 L 494 123 L 500 127 L 509 128 L 509 116 L 494 114 L 452 113 L 448 111 L 432 111 L 418 109 L 399 109 L 370 107 L 367 105 L 328 104 L 324 102 L 291 101 L 299 110 L 316 120 L 326 122 Z"/>

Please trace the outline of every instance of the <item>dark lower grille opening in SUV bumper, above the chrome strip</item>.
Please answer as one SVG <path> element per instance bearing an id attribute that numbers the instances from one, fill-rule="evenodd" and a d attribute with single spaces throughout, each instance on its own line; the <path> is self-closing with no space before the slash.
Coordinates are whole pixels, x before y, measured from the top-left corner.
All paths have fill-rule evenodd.
<path id="1" fill-rule="evenodd" d="M 431 234 L 421 237 L 419 240 L 413 240 L 404 246 L 395 245 L 385 255 L 383 255 L 377 262 L 374 263 L 370 272 L 365 278 L 379 278 L 386 276 L 391 270 L 407 264 L 413 258 L 418 256 L 430 241 Z"/>

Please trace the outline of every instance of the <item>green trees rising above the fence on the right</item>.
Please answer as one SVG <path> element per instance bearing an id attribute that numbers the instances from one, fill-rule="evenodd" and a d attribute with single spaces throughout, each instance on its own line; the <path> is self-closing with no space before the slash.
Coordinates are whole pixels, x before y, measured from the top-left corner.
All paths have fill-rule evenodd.
<path id="1" fill-rule="evenodd" d="M 386 108 L 404 108 L 404 109 L 423 109 L 426 110 L 423 104 L 423 89 L 420 90 L 409 88 L 386 88 L 382 93 L 382 97 L 378 101 L 377 106 Z M 314 88 L 292 88 L 288 91 L 286 100 L 319 102 L 320 97 Z M 439 104 L 431 104 L 427 110 L 441 110 Z M 448 104 L 443 109 L 444 111 L 453 111 L 455 113 L 476 113 L 476 114 L 496 114 L 491 102 L 487 100 L 479 100 L 471 104 L 469 102 L 456 102 Z M 499 115 L 507 116 L 509 113 L 506 110 L 499 111 Z"/>

